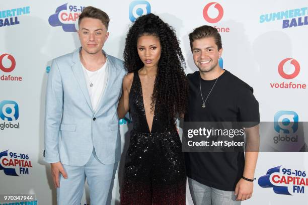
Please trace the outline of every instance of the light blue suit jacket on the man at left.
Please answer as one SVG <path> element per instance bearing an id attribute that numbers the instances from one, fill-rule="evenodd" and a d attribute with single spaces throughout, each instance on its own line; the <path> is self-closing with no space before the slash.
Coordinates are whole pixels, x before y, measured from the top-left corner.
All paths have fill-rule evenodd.
<path id="1" fill-rule="evenodd" d="M 106 54 L 106 53 L 105 53 Z M 52 61 L 45 106 L 45 161 L 83 166 L 93 147 L 103 164 L 121 154 L 117 106 L 125 75 L 123 61 L 107 55 L 108 77 L 93 111 L 79 49 Z"/>

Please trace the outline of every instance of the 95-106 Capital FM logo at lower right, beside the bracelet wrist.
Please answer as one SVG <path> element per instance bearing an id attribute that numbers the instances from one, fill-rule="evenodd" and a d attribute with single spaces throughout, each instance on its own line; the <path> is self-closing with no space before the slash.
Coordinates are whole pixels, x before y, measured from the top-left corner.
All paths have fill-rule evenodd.
<path id="1" fill-rule="evenodd" d="M 308 186 L 306 171 L 292 167 L 277 166 L 269 169 L 266 175 L 258 179 L 259 186 L 273 188 L 277 194 L 304 194 Z"/>

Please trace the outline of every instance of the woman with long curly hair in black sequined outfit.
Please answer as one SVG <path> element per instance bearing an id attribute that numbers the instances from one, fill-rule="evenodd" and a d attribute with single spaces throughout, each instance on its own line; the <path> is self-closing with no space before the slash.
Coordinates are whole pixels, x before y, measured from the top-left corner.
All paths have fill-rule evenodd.
<path id="1" fill-rule="evenodd" d="M 185 204 L 186 173 L 177 116 L 187 105 L 184 57 L 175 31 L 158 16 L 139 17 L 124 50 L 128 74 L 118 115 L 130 111 L 121 204 Z"/>

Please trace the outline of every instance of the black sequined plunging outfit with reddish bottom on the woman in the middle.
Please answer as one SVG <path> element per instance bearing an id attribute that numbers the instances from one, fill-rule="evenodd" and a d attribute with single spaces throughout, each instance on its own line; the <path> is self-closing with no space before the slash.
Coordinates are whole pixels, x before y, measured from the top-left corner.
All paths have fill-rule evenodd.
<path id="1" fill-rule="evenodd" d="M 129 93 L 133 130 L 125 157 L 121 204 L 185 204 L 186 173 L 176 128 L 154 109 L 149 131 L 138 72 Z M 172 124 L 172 123 L 171 123 Z"/>

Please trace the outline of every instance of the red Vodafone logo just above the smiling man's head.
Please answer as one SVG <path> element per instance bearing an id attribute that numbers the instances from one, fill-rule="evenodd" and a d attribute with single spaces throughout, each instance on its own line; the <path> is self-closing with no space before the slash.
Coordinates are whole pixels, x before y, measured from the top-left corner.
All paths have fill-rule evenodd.
<path id="1" fill-rule="evenodd" d="M 204 20 L 207 21 L 208 23 L 216 24 L 223 17 L 223 8 L 217 2 L 211 2 L 204 6 L 202 15 Z M 217 27 L 217 26 L 213 27 L 216 28 L 219 33 L 230 32 L 230 28 L 228 27 Z"/>

